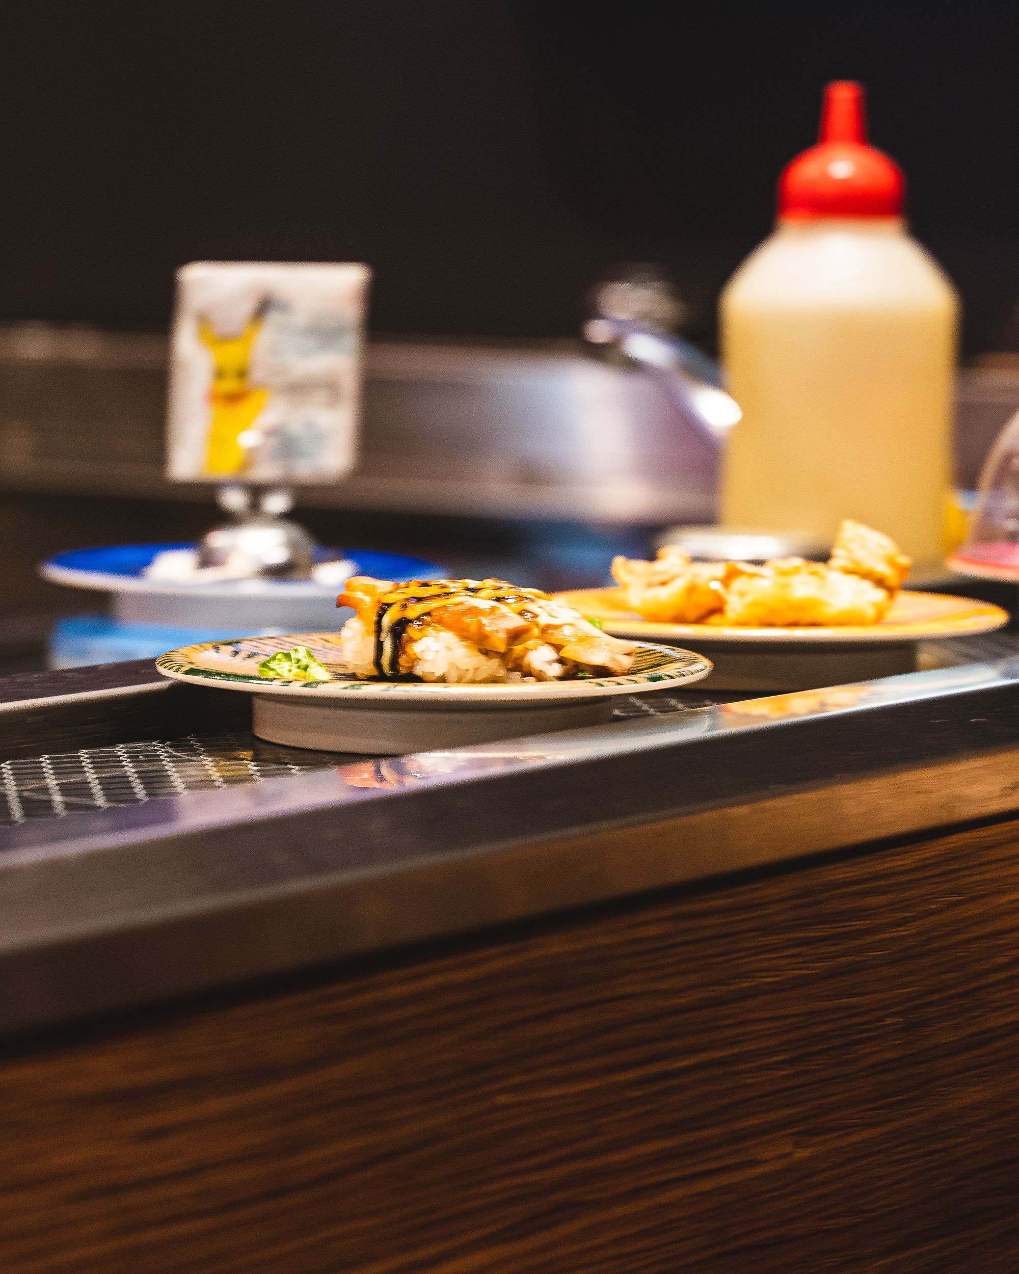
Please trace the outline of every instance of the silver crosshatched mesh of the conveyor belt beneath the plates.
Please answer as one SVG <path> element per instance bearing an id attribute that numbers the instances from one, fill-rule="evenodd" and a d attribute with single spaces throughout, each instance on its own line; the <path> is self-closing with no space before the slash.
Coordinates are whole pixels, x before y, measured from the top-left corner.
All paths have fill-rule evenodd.
<path id="1" fill-rule="evenodd" d="M 707 707 L 720 697 L 670 694 L 627 697 L 622 720 Z M 160 796 L 260 784 L 335 766 L 334 754 L 275 748 L 247 731 L 191 734 L 182 739 L 82 748 L 0 763 L 0 826 L 62 818 L 80 810 L 138 805 Z M 352 758 L 353 759 L 353 758 Z"/>

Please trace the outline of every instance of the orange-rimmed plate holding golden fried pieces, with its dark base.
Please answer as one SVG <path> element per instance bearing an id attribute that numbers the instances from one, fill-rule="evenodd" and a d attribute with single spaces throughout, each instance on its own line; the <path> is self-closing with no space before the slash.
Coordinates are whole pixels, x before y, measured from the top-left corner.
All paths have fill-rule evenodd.
<path id="1" fill-rule="evenodd" d="M 794 691 L 866 680 L 917 666 L 917 643 L 974 637 L 1008 623 L 990 603 L 902 592 L 908 572 L 888 539 L 843 522 L 828 563 L 785 558 L 755 566 L 616 558 L 615 589 L 559 594 L 605 632 L 704 654 L 711 685 Z"/>

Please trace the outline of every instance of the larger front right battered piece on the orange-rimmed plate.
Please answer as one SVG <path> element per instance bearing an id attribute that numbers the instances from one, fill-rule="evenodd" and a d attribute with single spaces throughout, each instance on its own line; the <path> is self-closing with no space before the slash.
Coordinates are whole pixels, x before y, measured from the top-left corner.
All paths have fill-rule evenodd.
<path id="1" fill-rule="evenodd" d="M 890 604 L 889 594 L 870 580 L 787 558 L 734 578 L 721 622 L 740 628 L 869 626 Z"/>

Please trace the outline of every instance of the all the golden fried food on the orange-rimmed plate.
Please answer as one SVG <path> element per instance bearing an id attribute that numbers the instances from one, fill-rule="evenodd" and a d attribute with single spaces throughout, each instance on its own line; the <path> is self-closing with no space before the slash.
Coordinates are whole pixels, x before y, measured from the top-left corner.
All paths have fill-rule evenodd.
<path id="1" fill-rule="evenodd" d="M 830 561 L 776 558 L 692 562 L 683 549 L 660 549 L 655 562 L 616 557 L 613 576 L 627 605 L 655 623 L 752 628 L 844 627 L 879 623 L 909 569 L 909 559 L 880 531 L 846 520 Z"/>

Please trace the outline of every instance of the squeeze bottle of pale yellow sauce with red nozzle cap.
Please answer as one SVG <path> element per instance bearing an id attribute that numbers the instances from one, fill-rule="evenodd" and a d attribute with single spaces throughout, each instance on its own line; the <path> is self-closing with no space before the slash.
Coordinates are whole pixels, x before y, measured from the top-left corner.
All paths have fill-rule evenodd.
<path id="1" fill-rule="evenodd" d="M 903 178 L 866 144 L 860 84 L 824 93 L 819 144 L 729 282 L 721 339 L 743 419 L 721 517 L 830 541 L 867 522 L 917 563 L 944 552 L 958 301 L 902 219 Z"/>

